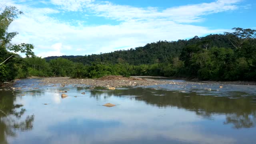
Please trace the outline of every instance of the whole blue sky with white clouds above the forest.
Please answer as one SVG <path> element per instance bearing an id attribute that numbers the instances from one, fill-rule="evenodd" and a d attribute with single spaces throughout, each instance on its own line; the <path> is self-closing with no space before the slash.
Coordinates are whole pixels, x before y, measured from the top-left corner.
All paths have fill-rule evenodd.
<path id="1" fill-rule="evenodd" d="M 10 25 L 13 44 L 37 56 L 89 55 L 159 40 L 256 28 L 255 0 L 0 0 L 24 12 Z"/>

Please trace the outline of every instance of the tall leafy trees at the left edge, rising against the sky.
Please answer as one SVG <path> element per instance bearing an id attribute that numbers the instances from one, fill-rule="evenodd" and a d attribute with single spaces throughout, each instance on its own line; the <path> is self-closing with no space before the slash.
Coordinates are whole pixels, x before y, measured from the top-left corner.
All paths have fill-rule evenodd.
<path id="1" fill-rule="evenodd" d="M 19 14 L 22 12 L 14 6 L 7 6 L 0 13 L 0 82 L 27 76 L 27 66 L 23 59 L 16 54 L 17 52 L 25 53 L 27 57 L 34 56 L 32 44 L 12 45 L 10 43 L 18 32 L 8 32 L 8 27 Z"/>

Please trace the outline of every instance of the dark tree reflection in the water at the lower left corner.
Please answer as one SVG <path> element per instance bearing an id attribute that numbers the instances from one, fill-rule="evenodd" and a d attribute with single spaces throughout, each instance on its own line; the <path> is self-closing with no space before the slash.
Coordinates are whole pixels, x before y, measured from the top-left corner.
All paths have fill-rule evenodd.
<path id="1" fill-rule="evenodd" d="M 16 136 L 15 130 L 32 130 L 34 115 L 21 117 L 26 112 L 23 105 L 15 104 L 16 96 L 12 92 L 1 92 L 0 94 L 0 144 L 8 144 L 6 136 Z"/>

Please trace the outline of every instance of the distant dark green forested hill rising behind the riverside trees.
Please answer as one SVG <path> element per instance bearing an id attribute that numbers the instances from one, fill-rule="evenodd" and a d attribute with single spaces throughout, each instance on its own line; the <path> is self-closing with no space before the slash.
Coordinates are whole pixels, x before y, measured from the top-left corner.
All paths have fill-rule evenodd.
<path id="1" fill-rule="evenodd" d="M 92 54 L 88 56 L 50 56 L 45 59 L 49 61 L 61 57 L 83 64 L 91 64 L 92 62 L 112 64 L 121 62 L 132 65 L 166 63 L 171 62 L 175 57 L 180 57 L 182 50 L 189 45 L 197 45 L 202 48 L 234 48 L 226 35 L 210 34 L 201 38 L 195 36 L 190 40 L 153 42 L 143 47 L 131 48 L 130 50 L 118 50 L 104 54 Z"/>

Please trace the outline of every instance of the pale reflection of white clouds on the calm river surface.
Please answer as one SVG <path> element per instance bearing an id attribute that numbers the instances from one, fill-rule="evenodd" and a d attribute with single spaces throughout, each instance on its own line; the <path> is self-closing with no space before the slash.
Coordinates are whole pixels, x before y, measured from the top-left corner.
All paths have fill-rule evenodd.
<path id="1" fill-rule="evenodd" d="M 224 120 L 225 117 L 217 121 L 220 125 L 216 123 L 220 126 L 218 127 L 220 129 L 217 128 L 216 131 L 205 132 L 207 128 L 205 129 L 204 123 L 202 124 L 202 121 L 205 121 L 204 118 L 200 118 L 195 112 L 182 108 L 157 108 L 156 106 L 148 106 L 145 102 L 139 101 L 136 102 L 135 106 L 134 103 L 129 102 L 130 97 L 116 98 L 111 96 L 105 99 L 104 96 L 106 94 L 98 95 L 97 100 L 89 96 L 83 97 L 81 100 L 72 100 L 71 98 L 76 95 L 76 92 L 71 91 L 69 93 L 70 97 L 56 100 L 52 97 L 53 92 L 56 91 L 49 89 L 45 92 L 45 96 L 42 99 L 51 103 L 50 107 L 36 109 L 38 104 L 42 103 L 42 100 L 34 102 L 33 99 L 25 99 L 25 101 L 22 101 L 22 104 L 24 102 L 30 104 L 30 112 L 36 116 L 34 120 L 35 127 L 32 131 L 34 136 L 42 138 L 42 140 L 49 138 L 48 140 L 50 141 L 47 141 L 48 143 L 94 144 L 126 142 L 137 140 L 138 138 L 155 140 L 159 136 L 170 141 L 178 140 L 180 143 L 234 144 L 237 142 L 234 136 L 215 133 L 221 130 L 222 123 L 220 121 Z M 54 97 L 57 95 L 60 98 L 60 94 L 54 94 Z M 85 101 L 86 104 L 84 103 Z M 106 103 L 106 101 L 120 105 L 114 109 L 102 108 L 101 105 Z M 21 103 L 19 99 L 17 102 Z M 68 106 L 70 102 L 76 102 L 76 104 L 73 104 L 72 108 L 70 108 Z M 51 110 L 50 113 L 49 110 Z M 45 116 L 49 118 L 45 118 Z M 42 120 L 44 120 L 43 123 Z M 71 120 L 78 120 L 72 122 L 72 126 L 81 126 L 81 128 L 78 127 L 76 129 L 76 132 L 71 130 L 67 136 L 63 137 L 59 136 L 59 133 L 55 131 L 56 129 L 49 130 L 52 127 L 60 128 L 61 130 L 62 127 L 58 126 L 69 124 Z M 91 134 L 84 134 L 88 131 L 83 129 L 83 123 L 80 122 L 86 120 L 94 121 L 95 124 L 97 124 L 96 122 L 118 122 L 120 126 L 102 126 L 92 129 Z M 19 133 L 16 140 L 20 140 L 20 143 L 25 143 L 28 141 L 29 135 L 31 133 Z"/>

